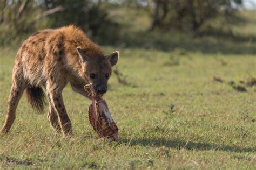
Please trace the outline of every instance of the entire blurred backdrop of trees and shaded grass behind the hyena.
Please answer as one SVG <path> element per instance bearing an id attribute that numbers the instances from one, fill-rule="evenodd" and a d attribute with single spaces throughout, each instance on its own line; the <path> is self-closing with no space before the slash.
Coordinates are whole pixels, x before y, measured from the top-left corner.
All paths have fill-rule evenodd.
<path id="1" fill-rule="evenodd" d="M 0 46 L 17 46 L 37 30 L 75 24 L 106 46 L 256 52 L 255 0 L 0 2 Z"/>

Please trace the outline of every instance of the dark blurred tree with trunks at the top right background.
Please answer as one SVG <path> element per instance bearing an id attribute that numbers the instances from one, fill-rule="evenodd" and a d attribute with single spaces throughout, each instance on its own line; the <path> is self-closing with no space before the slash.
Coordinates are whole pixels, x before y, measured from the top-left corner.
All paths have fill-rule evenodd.
<path id="1" fill-rule="evenodd" d="M 154 3 L 151 29 L 160 26 L 198 31 L 208 19 L 234 17 L 234 5 L 242 5 L 242 0 L 155 0 Z"/>

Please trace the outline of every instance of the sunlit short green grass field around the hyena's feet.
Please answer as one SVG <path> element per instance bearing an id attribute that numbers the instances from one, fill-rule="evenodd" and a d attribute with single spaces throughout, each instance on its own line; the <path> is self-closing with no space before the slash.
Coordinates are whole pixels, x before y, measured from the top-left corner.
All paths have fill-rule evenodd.
<path id="1" fill-rule="evenodd" d="M 53 132 L 46 114 L 36 114 L 23 96 L 10 134 L 0 134 L 0 168 L 255 169 L 256 85 L 248 84 L 256 76 L 255 39 L 191 41 L 198 48 L 103 46 L 120 51 L 114 69 L 122 82 L 113 75 L 104 96 L 119 128 L 116 143 L 97 138 L 90 101 L 70 86 L 63 94 L 70 138 Z M 1 48 L 1 125 L 16 51 Z"/>

